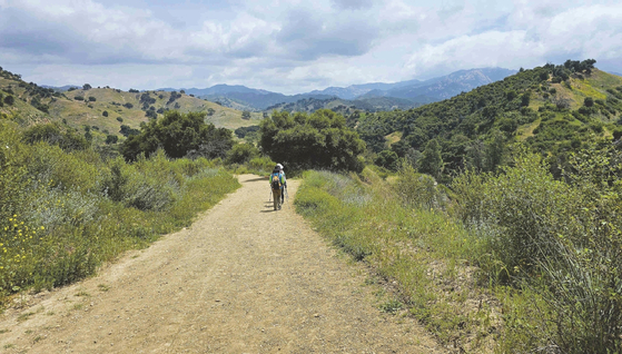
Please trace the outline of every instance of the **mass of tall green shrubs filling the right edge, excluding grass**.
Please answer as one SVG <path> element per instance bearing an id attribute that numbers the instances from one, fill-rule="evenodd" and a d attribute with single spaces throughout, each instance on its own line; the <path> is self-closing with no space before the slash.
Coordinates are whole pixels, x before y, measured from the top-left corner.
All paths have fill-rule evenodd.
<path id="1" fill-rule="evenodd" d="M 522 336 L 562 353 L 622 350 L 622 156 L 605 146 L 571 155 L 564 180 L 523 151 L 498 176 L 452 185 L 457 215 L 485 238 L 488 277 L 541 299 L 523 314 L 533 317 L 513 319 L 534 324 Z"/>

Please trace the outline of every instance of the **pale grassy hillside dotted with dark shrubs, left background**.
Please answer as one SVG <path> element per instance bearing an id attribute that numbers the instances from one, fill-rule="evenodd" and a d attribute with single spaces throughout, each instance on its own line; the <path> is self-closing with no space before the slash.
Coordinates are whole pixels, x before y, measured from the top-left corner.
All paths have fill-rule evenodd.
<path id="1" fill-rule="evenodd" d="M 23 124 L 63 120 L 76 128 L 89 126 L 119 136 L 121 125 L 138 129 L 141 122 L 148 121 L 149 110 L 154 111 L 151 117 L 170 109 L 205 111 L 208 121 L 228 129 L 256 125 L 263 118 L 261 114 L 254 112 L 250 119 L 243 119 L 241 111 L 179 92 L 127 92 L 106 87 L 60 94 L 27 83 L 9 71 L 0 71 L 0 90 L 4 96 L 14 97 L 14 104 L 0 107 L 0 112 L 19 114 Z"/>

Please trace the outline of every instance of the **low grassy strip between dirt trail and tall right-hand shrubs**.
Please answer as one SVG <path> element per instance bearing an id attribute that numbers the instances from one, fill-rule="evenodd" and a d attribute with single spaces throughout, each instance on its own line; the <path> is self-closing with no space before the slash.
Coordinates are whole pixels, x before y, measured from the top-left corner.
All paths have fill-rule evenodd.
<path id="1" fill-rule="evenodd" d="M 446 217 L 445 203 L 444 188 L 412 168 L 393 183 L 369 168 L 359 176 L 307 171 L 295 200 L 322 235 L 371 266 L 371 281 L 395 291 L 382 311 L 407 311 L 456 351 L 490 352 L 498 337 L 493 303 L 465 266 L 481 245 Z"/>

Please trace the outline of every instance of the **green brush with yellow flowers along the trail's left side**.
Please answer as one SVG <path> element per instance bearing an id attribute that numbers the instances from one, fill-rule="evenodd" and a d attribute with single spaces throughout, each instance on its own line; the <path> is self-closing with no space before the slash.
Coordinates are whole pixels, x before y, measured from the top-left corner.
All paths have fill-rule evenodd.
<path id="1" fill-rule="evenodd" d="M 130 165 L 63 149 L 57 128 L 24 132 L 0 121 L 0 301 L 83 278 L 239 187 L 205 158 L 170 160 L 160 150 Z"/>

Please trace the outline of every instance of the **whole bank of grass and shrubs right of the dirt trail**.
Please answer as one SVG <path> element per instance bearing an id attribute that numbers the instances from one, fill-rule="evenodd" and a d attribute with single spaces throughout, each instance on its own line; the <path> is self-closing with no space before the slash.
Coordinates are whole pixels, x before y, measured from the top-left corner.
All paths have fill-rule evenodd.
<path id="1" fill-rule="evenodd" d="M 498 173 L 450 188 L 397 175 L 308 171 L 297 210 L 445 344 L 466 352 L 620 353 L 622 153 L 610 141 L 555 179 L 515 149 Z"/>

